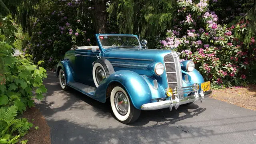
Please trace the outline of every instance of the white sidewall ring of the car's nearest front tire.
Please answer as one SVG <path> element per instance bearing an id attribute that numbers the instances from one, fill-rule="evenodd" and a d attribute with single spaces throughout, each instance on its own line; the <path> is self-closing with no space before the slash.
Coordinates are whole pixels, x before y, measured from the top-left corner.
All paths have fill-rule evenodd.
<path id="1" fill-rule="evenodd" d="M 116 95 L 116 92 L 123 92 L 128 100 L 128 111 L 125 115 L 121 115 L 118 113 L 118 111 L 116 110 L 116 106 L 115 106 L 115 102 L 114 102 L 114 99 L 115 99 L 115 95 Z M 130 117 L 131 117 L 131 102 L 130 102 L 130 98 L 128 96 L 128 94 L 126 93 L 126 91 L 120 87 L 120 86 L 115 86 L 112 91 L 111 91 L 111 94 L 110 94 L 110 104 L 111 104 L 111 108 L 112 108 L 112 111 L 114 113 L 114 115 L 116 116 L 116 118 L 120 121 L 120 122 L 123 122 L 123 123 L 128 123 L 130 122 Z"/>

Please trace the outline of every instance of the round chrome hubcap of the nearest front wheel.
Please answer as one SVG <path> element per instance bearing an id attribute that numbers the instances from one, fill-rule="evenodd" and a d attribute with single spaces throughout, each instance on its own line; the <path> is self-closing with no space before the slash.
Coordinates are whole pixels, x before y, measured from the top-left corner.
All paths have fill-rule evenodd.
<path id="1" fill-rule="evenodd" d="M 128 112 L 128 100 L 123 92 L 116 92 L 114 98 L 116 110 L 119 114 L 125 115 Z"/>

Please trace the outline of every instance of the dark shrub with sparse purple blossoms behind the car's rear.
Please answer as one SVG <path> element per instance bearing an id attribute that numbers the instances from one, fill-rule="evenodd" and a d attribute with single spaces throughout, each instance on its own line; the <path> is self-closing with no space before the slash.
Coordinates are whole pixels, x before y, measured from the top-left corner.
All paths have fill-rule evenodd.
<path id="1" fill-rule="evenodd" d="M 50 12 L 34 22 L 31 43 L 25 52 L 34 57 L 34 62 L 44 60 L 45 68 L 53 68 L 73 44 L 94 44 L 92 23 L 89 15 L 79 14 L 80 1 L 62 0 L 54 2 Z"/>

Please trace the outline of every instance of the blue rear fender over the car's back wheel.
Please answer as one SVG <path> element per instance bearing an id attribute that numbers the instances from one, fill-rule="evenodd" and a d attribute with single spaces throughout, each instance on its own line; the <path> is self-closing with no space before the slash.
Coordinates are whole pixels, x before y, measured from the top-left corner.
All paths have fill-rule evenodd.
<path id="1" fill-rule="evenodd" d="M 72 75 L 71 68 L 68 64 L 68 60 L 64 59 L 58 63 L 58 65 L 56 67 L 56 76 L 58 76 L 60 69 L 64 70 L 64 72 L 65 72 L 66 79 L 67 79 L 66 83 L 74 82 L 74 78 Z"/>

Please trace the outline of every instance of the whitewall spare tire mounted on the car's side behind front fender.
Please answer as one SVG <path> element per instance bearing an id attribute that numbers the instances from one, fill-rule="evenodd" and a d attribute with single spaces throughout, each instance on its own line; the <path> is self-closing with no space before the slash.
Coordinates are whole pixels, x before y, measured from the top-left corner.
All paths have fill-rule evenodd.
<path id="1" fill-rule="evenodd" d="M 92 68 L 92 77 L 93 77 L 95 86 L 98 88 L 100 83 L 113 72 L 115 72 L 114 68 L 107 59 L 100 58 L 96 60 L 93 63 L 93 68 Z"/>

